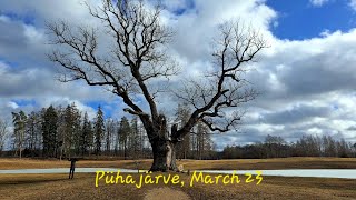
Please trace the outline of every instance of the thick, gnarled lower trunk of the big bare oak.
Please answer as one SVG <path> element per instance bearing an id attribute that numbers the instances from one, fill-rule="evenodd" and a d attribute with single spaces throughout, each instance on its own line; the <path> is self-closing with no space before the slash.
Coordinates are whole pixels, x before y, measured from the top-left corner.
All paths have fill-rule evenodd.
<path id="1" fill-rule="evenodd" d="M 160 139 L 151 142 L 154 163 L 150 171 L 177 171 L 176 144 Z"/>

